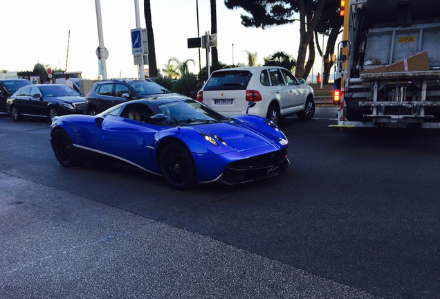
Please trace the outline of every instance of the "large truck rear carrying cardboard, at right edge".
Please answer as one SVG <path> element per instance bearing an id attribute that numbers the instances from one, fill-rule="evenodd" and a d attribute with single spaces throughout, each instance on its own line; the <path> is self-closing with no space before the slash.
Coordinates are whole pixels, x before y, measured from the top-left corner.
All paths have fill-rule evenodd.
<path id="1" fill-rule="evenodd" d="M 332 127 L 440 128 L 438 0 L 341 0 Z"/>

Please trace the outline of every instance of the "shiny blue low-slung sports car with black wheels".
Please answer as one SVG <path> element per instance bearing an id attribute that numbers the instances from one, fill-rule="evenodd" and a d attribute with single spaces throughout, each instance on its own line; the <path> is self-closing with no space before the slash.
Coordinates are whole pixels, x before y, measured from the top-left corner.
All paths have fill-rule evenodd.
<path id="1" fill-rule="evenodd" d="M 264 179 L 289 164 L 287 138 L 266 118 L 228 118 L 184 96 L 129 101 L 96 116 L 55 117 L 51 145 L 63 166 L 109 156 L 162 175 L 179 190 Z"/>

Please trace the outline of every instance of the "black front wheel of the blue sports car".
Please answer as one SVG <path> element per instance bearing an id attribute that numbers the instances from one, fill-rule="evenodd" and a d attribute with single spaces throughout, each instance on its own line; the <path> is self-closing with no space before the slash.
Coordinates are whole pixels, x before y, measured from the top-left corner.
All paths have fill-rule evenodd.
<path id="1" fill-rule="evenodd" d="M 159 158 L 165 180 L 174 189 L 188 190 L 196 184 L 196 167 L 190 152 L 178 143 L 165 145 Z"/>

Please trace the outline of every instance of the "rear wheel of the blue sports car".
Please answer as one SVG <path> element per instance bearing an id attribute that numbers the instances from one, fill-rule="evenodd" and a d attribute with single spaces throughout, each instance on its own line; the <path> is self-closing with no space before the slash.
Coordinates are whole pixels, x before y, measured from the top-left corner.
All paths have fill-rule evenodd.
<path id="1" fill-rule="evenodd" d="M 59 164 L 63 165 L 64 167 L 73 167 L 78 165 L 71 138 L 63 129 L 57 129 L 53 133 L 51 145 L 55 158 L 57 158 Z"/>

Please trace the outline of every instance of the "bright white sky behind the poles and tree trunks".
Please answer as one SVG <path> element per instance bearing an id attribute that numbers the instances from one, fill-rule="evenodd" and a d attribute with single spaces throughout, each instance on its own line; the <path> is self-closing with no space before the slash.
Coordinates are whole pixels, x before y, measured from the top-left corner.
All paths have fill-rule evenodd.
<path id="1" fill-rule="evenodd" d="M 143 0 L 139 1 L 140 22 L 145 28 Z M 169 58 L 192 59 L 190 70 L 199 71 L 199 51 L 187 48 L 187 39 L 197 37 L 196 0 L 150 0 L 158 69 Z M 131 54 L 130 30 L 136 28 L 134 0 L 100 0 L 104 46 L 109 51 L 108 78 L 137 78 L 138 69 Z M 2 0 L 0 69 L 32 71 L 35 64 L 49 64 L 67 71 L 82 71 L 83 78 L 98 78 L 99 45 L 95 0 Z M 297 56 L 299 24 L 266 30 L 245 28 L 240 14 L 228 10 L 217 0 L 217 36 L 219 60 L 226 64 L 247 64 L 246 51 L 257 52 L 257 62 L 284 51 Z M 200 34 L 209 31 L 210 0 L 199 0 Z M 232 44 L 234 46 L 232 47 Z M 205 49 L 201 49 L 205 66 Z M 320 62 L 315 63 L 317 69 Z M 148 66 L 145 66 L 147 69 Z M 318 70 L 319 71 L 319 70 Z M 316 71 L 315 71 L 316 72 Z"/>

